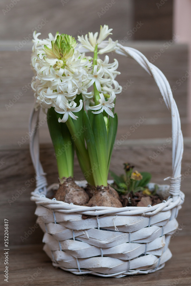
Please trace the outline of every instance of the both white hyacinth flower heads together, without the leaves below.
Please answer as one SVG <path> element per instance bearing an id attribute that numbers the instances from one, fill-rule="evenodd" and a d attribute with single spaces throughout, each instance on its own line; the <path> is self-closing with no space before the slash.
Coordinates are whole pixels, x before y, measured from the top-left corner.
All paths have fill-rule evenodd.
<path id="1" fill-rule="evenodd" d="M 85 37 L 78 36 L 81 47 L 87 51 L 97 51 L 97 55 L 115 50 L 117 41 L 114 42 L 111 38 L 105 40 L 112 34 L 111 31 L 112 29 L 104 25 L 100 27 L 100 33 L 90 32 Z M 39 35 L 36 32 L 33 34 L 31 55 L 35 74 L 31 87 L 34 90 L 36 108 L 54 107 L 56 112 L 64 114 L 62 122 L 66 122 L 68 116 L 76 119 L 73 112 L 78 112 L 83 104 L 80 101 L 80 105 L 76 107 L 75 99 L 82 94 L 86 110 L 91 109 L 95 114 L 105 110 L 113 117 L 109 108 L 114 107 L 115 94 L 122 90 L 115 80 L 117 74 L 120 74 L 117 71 L 118 61 L 114 59 L 113 63 L 109 63 L 108 55 L 104 60 L 96 56 L 97 62 L 93 64 L 93 57 L 80 53 L 72 36 L 58 33 L 53 36 L 49 33 L 48 38 L 39 39 Z M 100 103 L 92 106 L 95 88 L 100 94 Z"/>

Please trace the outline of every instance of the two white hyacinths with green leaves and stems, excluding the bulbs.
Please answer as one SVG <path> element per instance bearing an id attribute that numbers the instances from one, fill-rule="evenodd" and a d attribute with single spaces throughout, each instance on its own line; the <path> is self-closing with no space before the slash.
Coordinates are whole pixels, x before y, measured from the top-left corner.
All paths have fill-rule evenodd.
<path id="1" fill-rule="evenodd" d="M 115 80 L 120 74 L 118 61 L 110 63 L 108 55 L 99 58 L 117 48 L 117 41 L 105 41 L 111 31 L 107 25 L 101 26 L 99 33 L 78 36 L 78 44 L 66 34 L 54 37 L 50 33 L 47 39 L 39 39 L 40 33 L 33 35 L 35 108 L 47 110 L 61 182 L 74 176 L 75 150 L 88 183 L 107 186 L 117 132 L 115 98 L 122 90 Z M 62 154 L 58 150 L 63 150 Z"/>

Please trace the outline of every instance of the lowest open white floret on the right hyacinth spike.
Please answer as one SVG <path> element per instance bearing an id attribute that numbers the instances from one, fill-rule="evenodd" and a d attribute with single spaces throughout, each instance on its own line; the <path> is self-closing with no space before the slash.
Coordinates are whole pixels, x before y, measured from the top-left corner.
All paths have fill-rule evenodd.
<path id="1" fill-rule="evenodd" d="M 109 108 L 113 108 L 115 106 L 115 104 L 113 103 L 113 101 L 115 100 L 115 93 L 112 92 L 112 96 L 107 101 L 105 101 L 105 97 L 104 97 L 103 93 L 100 93 L 99 96 L 100 96 L 100 99 L 98 101 L 100 102 L 100 104 L 98 104 L 96 106 L 89 106 L 89 109 L 91 109 L 91 110 L 98 110 L 99 109 L 98 111 L 92 111 L 92 113 L 94 113 L 94 114 L 101 113 L 105 110 L 105 112 L 107 112 L 107 114 L 109 114 L 109 116 L 114 117 L 113 112 Z"/>

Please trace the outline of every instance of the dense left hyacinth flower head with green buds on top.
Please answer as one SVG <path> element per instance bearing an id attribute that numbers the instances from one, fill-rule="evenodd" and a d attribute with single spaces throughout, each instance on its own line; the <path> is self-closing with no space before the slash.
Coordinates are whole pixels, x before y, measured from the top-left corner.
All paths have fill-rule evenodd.
<path id="1" fill-rule="evenodd" d="M 56 112 L 64 114 L 62 122 L 69 115 L 76 119 L 72 112 L 78 112 L 83 106 L 81 100 L 76 107 L 76 96 L 80 93 L 91 94 L 87 92 L 84 82 L 88 79 L 87 71 L 92 63 L 84 54 L 74 50 L 77 44 L 71 36 L 56 34 L 54 37 L 49 34 L 48 39 L 41 40 L 38 39 L 40 33 L 34 32 L 33 35 L 31 65 L 36 77 L 31 86 L 35 92 L 36 107 L 54 107 Z"/>

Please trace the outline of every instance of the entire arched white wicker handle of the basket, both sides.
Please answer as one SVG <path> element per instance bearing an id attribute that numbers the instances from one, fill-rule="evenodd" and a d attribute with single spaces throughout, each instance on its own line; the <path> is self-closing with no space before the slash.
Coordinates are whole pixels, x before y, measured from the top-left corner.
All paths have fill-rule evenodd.
<path id="1" fill-rule="evenodd" d="M 107 45 L 108 41 L 102 43 L 102 47 Z M 83 51 L 83 50 L 80 50 Z M 172 115 L 172 177 L 170 178 L 170 189 L 169 192 L 173 196 L 173 200 L 176 200 L 176 197 L 180 193 L 180 182 L 181 182 L 181 161 L 183 154 L 183 136 L 180 125 L 180 116 L 178 113 L 178 108 L 176 102 L 173 98 L 170 84 L 164 74 L 158 69 L 155 65 L 150 63 L 147 58 L 136 49 L 131 47 L 124 47 L 120 44 L 117 44 L 115 50 L 116 53 L 120 55 L 125 55 L 132 59 L 135 59 L 139 65 L 145 69 L 150 76 L 152 76 L 162 94 L 164 102 L 171 112 Z M 38 137 L 38 120 L 39 120 L 38 110 L 32 110 L 30 120 L 29 120 L 29 132 L 32 132 L 30 138 L 30 154 L 31 159 L 36 171 L 36 190 L 41 193 L 46 194 L 47 181 L 46 177 L 40 163 L 39 159 L 39 137 Z"/>

